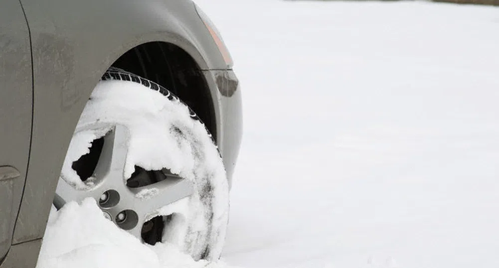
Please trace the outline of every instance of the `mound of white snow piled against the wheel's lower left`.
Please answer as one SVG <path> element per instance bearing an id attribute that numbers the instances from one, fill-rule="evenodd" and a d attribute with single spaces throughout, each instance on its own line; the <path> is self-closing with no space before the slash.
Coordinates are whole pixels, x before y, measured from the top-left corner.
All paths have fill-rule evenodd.
<path id="1" fill-rule="evenodd" d="M 195 262 L 171 244 L 143 245 L 106 220 L 93 199 L 52 209 L 37 268 L 226 268 Z"/>

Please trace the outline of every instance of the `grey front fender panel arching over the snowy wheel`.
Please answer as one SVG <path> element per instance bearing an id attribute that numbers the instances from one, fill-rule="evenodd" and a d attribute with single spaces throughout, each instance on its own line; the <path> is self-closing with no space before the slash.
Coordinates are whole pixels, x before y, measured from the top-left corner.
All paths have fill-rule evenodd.
<path id="1" fill-rule="evenodd" d="M 76 123 L 100 76 L 119 56 L 137 45 L 164 41 L 184 49 L 203 70 L 230 72 L 190 0 L 21 2 L 31 30 L 34 98 L 26 194 L 15 225 L 14 244 L 43 236 Z M 219 127 L 227 121 L 222 116 L 225 107 L 240 103 L 240 95 L 223 96 L 215 76 L 206 77 Z M 240 116 L 240 111 L 234 115 Z M 226 132 L 217 131 L 217 140 L 231 135 Z M 239 141 L 236 143 L 223 145 L 222 155 L 226 150 L 237 151 Z M 226 161 L 231 167 L 235 162 L 224 157 Z"/>

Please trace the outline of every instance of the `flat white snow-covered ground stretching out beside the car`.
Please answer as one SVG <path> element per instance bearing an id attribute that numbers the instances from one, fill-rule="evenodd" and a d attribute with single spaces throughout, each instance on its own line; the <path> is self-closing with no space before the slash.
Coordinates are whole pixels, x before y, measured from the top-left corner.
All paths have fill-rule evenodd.
<path id="1" fill-rule="evenodd" d="M 223 33 L 244 94 L 225 262 L 499 267 L 499 8 L 196 2 Z M 84 228 L 95 208 L 74 205 L 81 221 L 60 212 L 45 245 L 56 227 Z M 135 261 L 127 251 L 139 263 L 158 256 L 124 249 L 127 238 L 100 241 L 102 251 L 66 258 L 122 268 Z M 205 265 L 166 252 L 164 267 Z"/>

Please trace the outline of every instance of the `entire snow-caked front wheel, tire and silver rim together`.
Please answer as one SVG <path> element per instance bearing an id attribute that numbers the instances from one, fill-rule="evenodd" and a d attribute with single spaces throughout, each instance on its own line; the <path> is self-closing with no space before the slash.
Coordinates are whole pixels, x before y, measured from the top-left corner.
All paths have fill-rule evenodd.
<path id="1" fill-rule="evenodd" d="M 196 114 L 164 87 L 109 69 L 78 121 L 58 199 L 93 198 L 104 216 L 143 242 L 169 242 L 217 259 L 229 187 L 222 159 Z"/>

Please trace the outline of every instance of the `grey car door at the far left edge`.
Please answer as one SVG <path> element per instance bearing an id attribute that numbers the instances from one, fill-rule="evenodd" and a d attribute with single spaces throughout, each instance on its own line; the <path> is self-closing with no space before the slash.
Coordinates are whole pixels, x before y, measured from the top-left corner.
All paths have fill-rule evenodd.
<path id="1" fill-rule="evenodd" d="M 22 197 L 31 137 L 29 31 L 18 0 L 0 5 L 0 260 L 7 253 Z M 0 262 L 1 263 L 1 262 Z"/>

